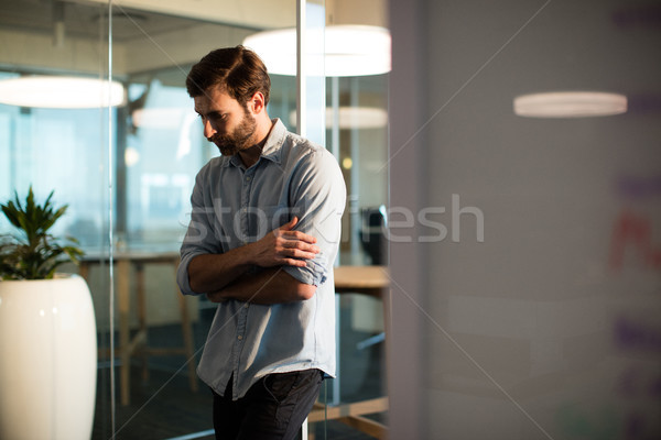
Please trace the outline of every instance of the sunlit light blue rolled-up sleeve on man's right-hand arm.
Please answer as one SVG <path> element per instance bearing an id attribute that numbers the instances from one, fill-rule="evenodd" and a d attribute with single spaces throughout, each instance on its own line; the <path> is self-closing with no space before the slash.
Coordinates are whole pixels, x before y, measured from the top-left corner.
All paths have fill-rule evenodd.
<path id="1" fill-rule="evenodd" d="M 305 267 L 283 270 L 304 284 L 319 286 L 333 268 L 342 232 L 346 187 L 335 157 L 326 150 L 311 152 L 301 160 L 290 186 L 292 215 L 299 217 L 295 230 L 317 239 L 321 252 Z"/>

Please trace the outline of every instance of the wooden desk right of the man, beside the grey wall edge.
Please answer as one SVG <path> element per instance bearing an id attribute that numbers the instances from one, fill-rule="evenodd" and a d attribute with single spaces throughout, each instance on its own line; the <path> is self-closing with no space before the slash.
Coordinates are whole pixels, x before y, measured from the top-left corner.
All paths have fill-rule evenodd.
<path id="1" fill-rule="evenodd" d="M 335 267 L 336 294 L 364 294 L 380 298 L 383 304 L 383 322 L 388 327 L 388 300 L 384 298 L 386 289 L 390 286 L 388 267 L 384 266 L 338 266 Z M 388 334 L 388 329 L 386 329 Z M 328 420 L 338 420 L 361 432 L 378 439 L 387 436 L 388 428 L 383 424 L 362 417 L 368 414 L 388 410 L 388 397 L 355 402 L 325 408 L 323 404 L 315 404 L 307 417 L 311 424 Z"/>

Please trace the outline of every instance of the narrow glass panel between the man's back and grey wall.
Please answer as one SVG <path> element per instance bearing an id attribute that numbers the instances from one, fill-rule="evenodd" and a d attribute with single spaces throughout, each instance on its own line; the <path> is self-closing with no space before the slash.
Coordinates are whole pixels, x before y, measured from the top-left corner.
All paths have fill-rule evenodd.
<path id="1" fill-rule="evenodd" d="M 327 73 L 342 70 L 334 63 L 338 53 L 347 55 L 351 52 L 351 47 L 338 50 L 336 29 L 345 22 L 377 24 L 370 20 L 383 11 L 375 9 L 373 4 L 376 3 L 349 8 L 334 3 L 327 9 Z M 366 19 L 370 15 L 371 19 Z M 386 276 L 378 266 L 387 265 L 383 228 L 388 194 L 388 75 L 365 75 L 354 70 L 354 76 L 332 76 L 326 79 L 326 145 L 338 158 L 347 186 L 347 207 L 343 218 L 343 240 L 337 270 L 357 271 L 351 272 L 348 279 L 340 276 L 336 279 L 337 284 L 342 278 L 340 284 L 344 286 L 338 289 L 337 295 L 338 375 L 328 383 L 327 395 L 329 407 L 339 406 L 344 411 L 349 404 L 371 406 L 372 409 L 359 411 L 360 414 L 353 410 L 353 415 L 371 420 L 373 426 L 368 428 L 366 422 L 355 429 L 348 429 L 332 418 L 327 424 L 330 438 L 369 438 L 368 433 L 375 436 L 383 429 L 387 409 L 387 405 L 383 405 L 383 290 L 379 287 L 356 287 L 371 276 L 366 274 Z M 338 273 L 340 272 L 336 272 Z"/>

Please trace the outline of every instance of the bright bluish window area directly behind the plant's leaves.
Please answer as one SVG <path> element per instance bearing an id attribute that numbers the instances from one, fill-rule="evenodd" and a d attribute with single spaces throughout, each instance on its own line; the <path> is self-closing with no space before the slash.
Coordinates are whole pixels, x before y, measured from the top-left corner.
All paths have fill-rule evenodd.
<path id="1" fill-rule="evenodd" d="M 99 122 L 107 119 L 107 111 L 0 105 L 0 198 L 8 199 L 14 190 L 25 193 L 30 185 L 41 198 L 56 189 L 56 201 L 69 208 L 53 233 L 68 233 L 86 249 L 100 248 L 106 221 Z"/>

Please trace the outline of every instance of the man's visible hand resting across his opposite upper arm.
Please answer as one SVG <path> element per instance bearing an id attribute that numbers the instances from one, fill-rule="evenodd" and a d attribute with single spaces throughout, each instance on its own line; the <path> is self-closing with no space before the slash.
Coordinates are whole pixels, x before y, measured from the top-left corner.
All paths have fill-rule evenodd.
<path id="1" fill-rule="evenodd" d="M 250 244 L 252 263 L 260 267 L 281 265 L 305 267 L 305 260 L 314 258 L 319 249 L 314 244 L 316 243 L 314 237 L 293 231 L 297 222 L 299 218 L 294 217 L 289 223 Z"/>

